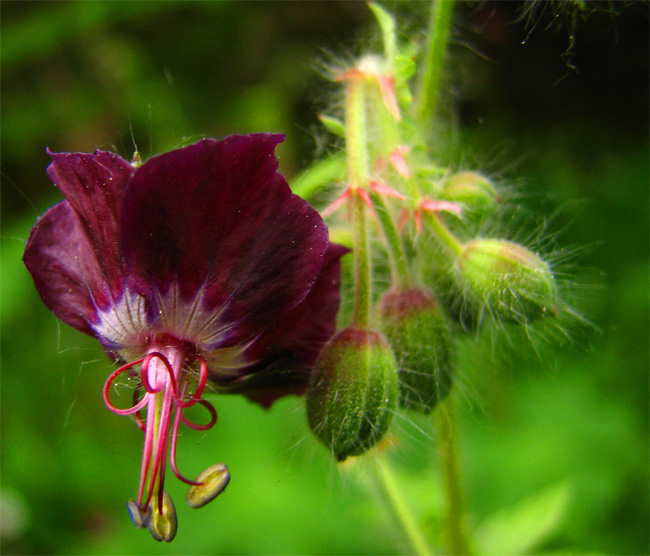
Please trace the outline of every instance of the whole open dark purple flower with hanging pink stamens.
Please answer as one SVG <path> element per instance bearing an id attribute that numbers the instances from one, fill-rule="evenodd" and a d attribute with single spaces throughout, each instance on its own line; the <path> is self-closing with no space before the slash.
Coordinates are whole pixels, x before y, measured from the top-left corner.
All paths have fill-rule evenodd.
<path id="1" fill-rule="evenodd" d="M 145 431 L 128 508 L 157 540 L 176 531 L 163 490 L 168 453 L 193 507 L 229 480 L 223 464 L 197 481 L 176 467 L 180 422 L 205 430 L 217 420 L 201 397 L 206 382 L 268 407 L 303 391 L 334 332 L 346 250 L 329 244 L 318 213 L 278 173 L 281 141 L 205 139 L 138 167 L 109 152 L 50 153 L 48 175 L 66 200 L 34 226 L 25 265 L 55 315 L 124 363 L 104 400 Z M 139 386 L 133 407 L 118 409 L 109 397 L 123 373 Z M 210 413 L 205 425 L 183 415 L 197 403 Z"/>

